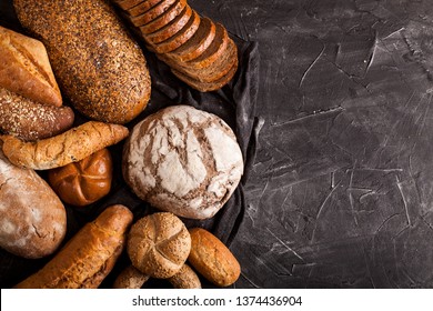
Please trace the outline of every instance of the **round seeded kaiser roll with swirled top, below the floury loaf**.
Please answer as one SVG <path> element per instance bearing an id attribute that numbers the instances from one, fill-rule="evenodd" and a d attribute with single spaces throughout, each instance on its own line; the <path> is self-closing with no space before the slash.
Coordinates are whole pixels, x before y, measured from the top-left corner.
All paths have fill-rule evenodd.
<path id="1" fill-rule="evenodd" d="M 157 279 L 174 275 L 187 261 L 191 239 L 172 213 L 160 212 L 138 220 L 128 234 L 128 254 L 142 273 Z"/>

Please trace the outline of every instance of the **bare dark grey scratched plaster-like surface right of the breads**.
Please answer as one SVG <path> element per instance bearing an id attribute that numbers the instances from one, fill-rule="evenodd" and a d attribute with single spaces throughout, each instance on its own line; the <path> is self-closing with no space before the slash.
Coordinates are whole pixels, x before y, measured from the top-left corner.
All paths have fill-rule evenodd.
<path id="1" fill-rule="evenodd" d="M 259 42 L 236 288 L 433 288 L 433 2 L 189 0 Z"/>

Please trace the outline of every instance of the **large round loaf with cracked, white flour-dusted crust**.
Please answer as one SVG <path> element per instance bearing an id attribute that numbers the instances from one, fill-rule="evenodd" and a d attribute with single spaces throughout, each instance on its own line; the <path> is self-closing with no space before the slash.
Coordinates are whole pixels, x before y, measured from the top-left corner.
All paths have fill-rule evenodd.
<path id="1" fill-rule="evenodd" d="M 189 106 L 160 110 L 125 142 L 127 183 L 153 207 L 191 219 L 213 217 L 243 173 L 242 153 L 219 117 Z"/>

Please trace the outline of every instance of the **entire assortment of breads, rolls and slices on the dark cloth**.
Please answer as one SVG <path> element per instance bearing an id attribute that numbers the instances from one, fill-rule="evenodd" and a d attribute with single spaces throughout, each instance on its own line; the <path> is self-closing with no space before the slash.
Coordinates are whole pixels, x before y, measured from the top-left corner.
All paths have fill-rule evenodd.
<path id="1" fill-rule="evenodd" d="M 194 23 L 191 18 L 198 16 L 179 0 L 114 2 L 128 3 L 157 51 L 172 36 L 183 38 L 173 29 Z M 129 129 L 150 100 L 151 77 L 113 7 L 104 0 L 13 4 L 28 32 L 0 27 L 0 247 L 28 259 L 53 255 L 17 288 L 98 288 L 123 251 L 131 265 L 115 288 L 141 288 L 149 278 L 200 288 L 197 272 L 215 285 L 235 282 L 240 265 L 230 250 L 211 232 L 182 221 L 212 218 L 238 187 L 243 159 L 231 128 L 214 114 L 173 106 Z M 173 7 L 177 14 L 169 10 Z M 213 54 L 218 36 L 205 34 L 202 24 L 214 32 L 209 19 L 199 18 L 200 32 L 194 37 L 195 30 L 187 30 L 192 43 L 184 39 L 161 58 L 192 61 Z M 231 48 L 220 56 L 224 61 L 215 57 L 207 70 L 197 71 L 201 77 L 234 58 L 235 46 L 228 42 Z M 178 68 L 182 61 L 173 63 L 175 74 L 187 74 Z M 77 123 L 75 113 L 87 121 Z M 128 207 L 109 205 L 64 241 L 64 205 L 78 209 L 110 193 L 110 147 L 120 142 L 124 182 L 160 212 L 135 219 Z"/>

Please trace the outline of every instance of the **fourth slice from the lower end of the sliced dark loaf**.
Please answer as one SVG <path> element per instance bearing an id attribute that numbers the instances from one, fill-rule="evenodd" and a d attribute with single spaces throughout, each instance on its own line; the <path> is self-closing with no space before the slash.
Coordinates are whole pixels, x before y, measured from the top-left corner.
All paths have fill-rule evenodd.
<path id="1" fill-rule="evenodd" d="M 201 18 L 199 29 L 185 43 L 167 56 L 173 60 L 185 62 L 201 56 L 215 37 L 215 24 L 209 18 Z"/>

